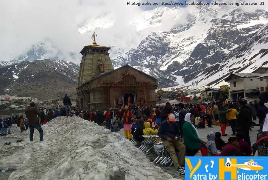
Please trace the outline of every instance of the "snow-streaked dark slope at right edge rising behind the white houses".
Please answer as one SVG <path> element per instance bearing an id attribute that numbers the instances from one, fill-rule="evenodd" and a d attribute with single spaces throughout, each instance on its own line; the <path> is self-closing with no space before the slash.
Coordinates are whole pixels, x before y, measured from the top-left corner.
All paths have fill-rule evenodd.
<path id="1" fill-rule="evenodd" d="M 268 63 L 268 24 L 234 48 L 219 63 L 184 76 L 186 81 L 195 79 L 200 85 L 215 86 L 230 73 L 251 73 Z"/>

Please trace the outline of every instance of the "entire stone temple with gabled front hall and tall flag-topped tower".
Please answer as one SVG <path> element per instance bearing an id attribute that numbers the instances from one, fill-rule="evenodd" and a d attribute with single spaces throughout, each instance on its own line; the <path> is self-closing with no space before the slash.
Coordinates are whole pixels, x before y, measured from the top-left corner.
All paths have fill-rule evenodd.
<path id="1" fill-rule="evenodd" d="M 92 45 L 81 50 L 82 61 L 77 76 L 77 104 L 80 110 L 105 110 L 125 105 L 155 105 L 158 80 L 126 64 L 113 68 L 108 51 Z"/>

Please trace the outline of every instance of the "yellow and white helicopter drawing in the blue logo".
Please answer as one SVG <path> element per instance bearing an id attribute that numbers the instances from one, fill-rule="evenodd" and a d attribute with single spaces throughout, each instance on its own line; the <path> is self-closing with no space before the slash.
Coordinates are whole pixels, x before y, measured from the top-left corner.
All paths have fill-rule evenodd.
<path id="1" fill-rule="evenodd" d="M 257 162 L 250 159 L 250 161 L 244 162 L 244 164 L 232 164 L 230 158 L 227 158 L 225 163 L 226 167 L 237 167 L 237 173 L 239 173 L 239 169 L 247 170 L 247 171 L 256 171 L 258 173 L 259 170 L 263 170 L 263 167 Z"/>

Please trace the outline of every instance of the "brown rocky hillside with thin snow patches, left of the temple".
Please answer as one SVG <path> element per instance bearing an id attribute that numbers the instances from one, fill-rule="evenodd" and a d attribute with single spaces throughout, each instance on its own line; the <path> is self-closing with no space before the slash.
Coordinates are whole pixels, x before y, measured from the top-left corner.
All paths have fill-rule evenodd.
<path id="1" fill-rule="evenodd" d="M 79 67 L 71 61 L 22 61 L 0 67 L 0 94 L 57 99 L 65 92 L 75 96 Z"/>

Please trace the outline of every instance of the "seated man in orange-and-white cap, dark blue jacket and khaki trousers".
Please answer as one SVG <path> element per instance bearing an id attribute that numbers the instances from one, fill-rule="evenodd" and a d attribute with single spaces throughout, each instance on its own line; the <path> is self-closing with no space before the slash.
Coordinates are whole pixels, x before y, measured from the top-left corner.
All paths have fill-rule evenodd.
<path id="1" fill-rule="evenodd" d="M 184 160 L 186 146 L 180 140 L 180 129 L 178 124 L 175 122 L 175 115 L 170 113 L 163 121 L 158 129 L 158 136 L 162 138 L 166 150 L 169 152 L 174 166 L 177 168 L 177 173 L 185 174 Z M 179 151 L 179 159 L 175 148 Z"/>

